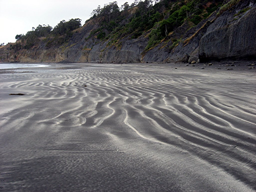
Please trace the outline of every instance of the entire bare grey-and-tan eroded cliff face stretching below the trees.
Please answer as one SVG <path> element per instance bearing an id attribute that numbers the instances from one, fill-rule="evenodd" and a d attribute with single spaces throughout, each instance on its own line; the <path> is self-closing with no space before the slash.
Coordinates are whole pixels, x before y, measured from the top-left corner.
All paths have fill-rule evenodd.
<path id="1" fill-rule="evenodd" d="M 191 62 L 219 59 L 250 59 L 256 56 L 256 0 L 243 1 L 231 6 L 222 14 L 216 10 L 197 26 L 185 21 L 164 41 L 145 51 L 147 31 L 132 39 L 129 35 L 117 42 L 100 40 L 99 27 L 92 20 L 76 30 L 68 43 L 47 47 L 40 41 L 30 49 L 10 50 L 10 45 L 0 48 L 2 62 Z M 192 27 L 191 27 L 192 26 Z M 173 43 L 173 39 L 178 39 Z M 175 45 L 174 45 L 175 44 Z"/>

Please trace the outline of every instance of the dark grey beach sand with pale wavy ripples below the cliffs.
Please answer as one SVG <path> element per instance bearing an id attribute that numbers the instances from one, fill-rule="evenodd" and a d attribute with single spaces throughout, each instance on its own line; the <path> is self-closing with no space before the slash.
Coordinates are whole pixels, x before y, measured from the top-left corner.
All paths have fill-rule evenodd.
<path id="1" fill-rule="evenodd" d="M 76 66 L 0 74 L 0 191 L 256 190 L 254 71 Z"/>

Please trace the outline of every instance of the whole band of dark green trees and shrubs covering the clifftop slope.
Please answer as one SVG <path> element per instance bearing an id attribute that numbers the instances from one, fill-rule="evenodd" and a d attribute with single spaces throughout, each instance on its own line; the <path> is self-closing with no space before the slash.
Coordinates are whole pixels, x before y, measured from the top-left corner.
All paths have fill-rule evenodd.
<path id="1" fill-rule="evenodd" d="M 240 0 L 231 0 L 221 7 L 221 11 L 226 10 Z M 97 28 L 93 28 L 90 34 L 83 38 L 76 38 L 82 31 L 81 20 L 62 20 L 54 28 L 49 25 L 39 25 L 32 28 L 26 35 L 16 35 L 17 42 L 10 49 L 19 50 L 22 48 L 35 48 L 37 42 L 42 41 L 45 48 L 59 47 L 66 49 L 74 45 L 74 42 L 92 39 L 92 44 L 100 41 L 107 41 L 107 46 L 122 47 L 122 39 L 137 39 L 140 36 L 148 37 L 148 44 L 144 51 L 150 50 L 160 42 L 172 40 L 175 47 L 180 39 L 172 39 L 170 35 L 175 29 L 182 26 L 185 21 L 190 25 L 197 25 L 203 19 L 209 17 L 216 11 L 223 0 L 135 0 L 129 5 L 125 2 L 118 7 L 116 1 L 100 5 L 91 13 L 91 18 L 86 23 L 93 20 L 97 23 Z M 220 11 L 219 11 L 220 12 Z M 191 26 L 191 27 L 193 27 Z M 75 41 L 73 41 L 76 39 Z M 89 50 L 89 48 L 81 49 Z"/>

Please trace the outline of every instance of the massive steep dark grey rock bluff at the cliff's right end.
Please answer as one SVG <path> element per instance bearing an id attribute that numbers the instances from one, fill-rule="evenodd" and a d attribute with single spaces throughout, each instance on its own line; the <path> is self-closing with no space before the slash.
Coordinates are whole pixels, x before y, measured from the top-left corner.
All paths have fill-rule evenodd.
<path id="1" fill-rule="evenodd" d="M 254 4 L 254 5 L 253 5 Z M 248 7 L 249 6 L 249 7 Z M 244 9 L 248 7 L 249 10 Z M 199 41 L 199 58 L 239 59 L 256 56 L 255 1 L 240 2 L 231 13 L 225 12 L 212 23 Z"/>

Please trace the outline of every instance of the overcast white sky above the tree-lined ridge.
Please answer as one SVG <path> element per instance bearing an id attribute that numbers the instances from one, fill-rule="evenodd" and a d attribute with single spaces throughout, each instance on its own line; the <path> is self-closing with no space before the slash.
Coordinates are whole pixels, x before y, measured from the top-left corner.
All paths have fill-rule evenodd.
<path id="1" fill-rule="evenodd" d="M 134 0 L 0 0 L 0 44 L 15 42 L 17 34 L 26 34 L 32 27 L 56 26 L 60 21 L 80 18 L 81 24 L 90 18 L 98 5 L 118 2 L 121 7 Z"/>

